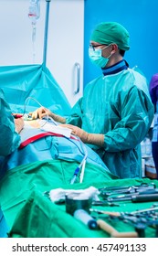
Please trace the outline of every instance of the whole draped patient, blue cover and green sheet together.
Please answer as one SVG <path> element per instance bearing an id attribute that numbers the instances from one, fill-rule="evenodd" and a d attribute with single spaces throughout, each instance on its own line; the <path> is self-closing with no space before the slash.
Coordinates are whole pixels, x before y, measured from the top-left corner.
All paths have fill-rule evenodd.
<path id="1" fill-rule="evenodd" d="M 37 122 L 39 122 L 37 120 Z M 46 120 L 40 122 L 46 123 Z M 45 191 L 58 187 L 102 187 L 105 181 L 116 179 L 90 147 L 78 138 L 64 136 L 51 120 L 46 125 L 26 122 L 20 132 L 20 146 L 0 163 L 0 204 L 11 228 L 19 210 L 30 193 L 37 190 L 43 197 Z M 82 161 L 86 164 L 82 180 Z M 79 168 L 74 184 L 75 171 Z M 82 184 L 81 184 L 82 183 Z M 7 191 L 7 193 L 6 193 Z"/>

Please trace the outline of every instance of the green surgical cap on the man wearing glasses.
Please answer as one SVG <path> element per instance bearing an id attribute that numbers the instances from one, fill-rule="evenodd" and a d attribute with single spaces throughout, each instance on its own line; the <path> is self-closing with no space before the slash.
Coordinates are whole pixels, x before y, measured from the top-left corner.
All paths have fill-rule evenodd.
<path id="1" fill-rule="evenodd" d="M 90 40 L 105 45 L 115 43 L 123 50 L 130 48 L 130 35 L 125 27 L 117 22 L 100 23 L 92 32 Z"/>

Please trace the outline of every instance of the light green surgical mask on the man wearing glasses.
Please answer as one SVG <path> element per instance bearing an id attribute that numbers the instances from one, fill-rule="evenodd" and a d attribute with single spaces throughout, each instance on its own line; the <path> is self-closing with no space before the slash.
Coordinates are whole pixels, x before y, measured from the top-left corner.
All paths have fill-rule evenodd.
<path id="1" fill-rule="evenodd" d="M 105 47 L 108 48 L 109 46 Z M 104 49 L 104 48 L 102 48 Z M 109 61 L 109 58 L 111 57 L 111 55 L 108 58 L 102 57 L 102 49 L 98 48 L 98 49 L 93 49 L 93 48 L 89 48 L 89 57 L 90 60 L 93 64 L 97 65 L 100 68 L 104 68 L 106 66 L 106 64 Z"/>

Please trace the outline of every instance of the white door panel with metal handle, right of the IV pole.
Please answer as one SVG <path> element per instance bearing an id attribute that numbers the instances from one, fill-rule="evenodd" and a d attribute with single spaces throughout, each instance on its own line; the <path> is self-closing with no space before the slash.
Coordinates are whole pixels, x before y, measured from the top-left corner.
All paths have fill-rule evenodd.
<path id="1" fill-rule="evenodd" d="M 84 0 L 56 0 L 50 5 L 47 67 L 73 105 L 83 88 Z"/>

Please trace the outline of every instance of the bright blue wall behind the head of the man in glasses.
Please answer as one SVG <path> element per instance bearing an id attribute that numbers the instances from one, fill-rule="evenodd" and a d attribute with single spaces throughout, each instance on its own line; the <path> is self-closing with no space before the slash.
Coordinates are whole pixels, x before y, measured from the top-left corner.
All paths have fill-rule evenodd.
<path id="1" fill-rule="evenodd" d="M 158 72 L 158 2 L 156 0 L 86 0 L 84 85 L 100 74 L 90 63 L 88 48 L 93 28 L 102 21 L 116 21 L 131 35 L 125 55 L 130 67 L 138 66 L 148 80 Z"/>

